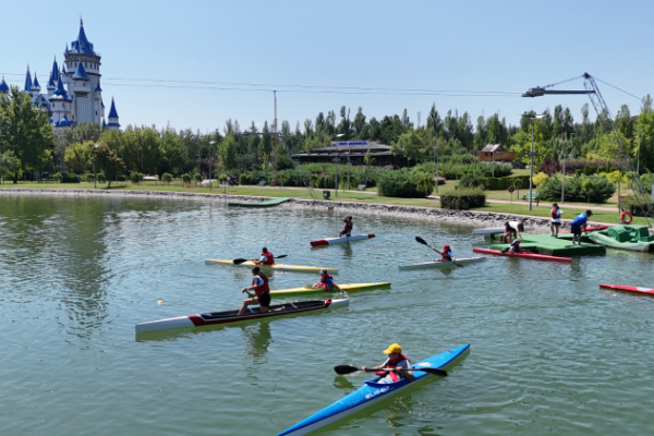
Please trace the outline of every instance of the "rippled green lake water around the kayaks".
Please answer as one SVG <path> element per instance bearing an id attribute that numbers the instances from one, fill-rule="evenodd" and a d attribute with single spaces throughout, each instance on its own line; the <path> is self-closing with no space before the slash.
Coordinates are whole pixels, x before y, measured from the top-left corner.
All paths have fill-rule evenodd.
<path id="1" fill-rule="evenodd" d="M 275 435 L 351 392 L 399 342 L 414 362 L 471 343 L 447 378 L 322 435 L 646 435 L 654 407 L 654 299 L 597 283 L 654 284 L 652 256 L 609 251 L 572 265 L 488 258 L 399 271 L 485 246 L 470 228 L 354 215 L 377 238 L 311 249 L 342 214 L 206 201 L 0 196 L 2 435 Z M 391 281 L 350 306 L 137 340 L 134 325 L 237 308 L 255 257 Z M 272 289 L 316 276 L 274 274 Z M 162 303 L 159 303 L 162 301 Z"/>

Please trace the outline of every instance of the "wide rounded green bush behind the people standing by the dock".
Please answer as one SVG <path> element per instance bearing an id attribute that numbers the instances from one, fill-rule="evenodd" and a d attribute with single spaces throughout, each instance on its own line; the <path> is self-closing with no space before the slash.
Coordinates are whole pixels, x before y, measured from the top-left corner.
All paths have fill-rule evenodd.
<path id="1" fill-rule="evenodd" d="M 586 190 L 583 189 L 584 180 L 590 182 L 590 185 L 589 182 L 586 182 Z M 615 183 L 611 183 L 600 175 L 576 175 L 573 178 L 566 178 L 566 202 L 605 203 L 615 193 Z M 561 198 L 561 181 L 558 177 L 549 178 L 549 180 L 541 186 L 541 198 L 554 202 Z"/>

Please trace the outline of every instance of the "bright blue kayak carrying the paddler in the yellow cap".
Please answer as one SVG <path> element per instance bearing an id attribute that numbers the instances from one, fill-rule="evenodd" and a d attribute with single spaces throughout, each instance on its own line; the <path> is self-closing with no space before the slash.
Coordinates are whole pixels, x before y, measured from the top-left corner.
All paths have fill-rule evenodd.
<path id="1" fill-rule="evenodd" d="M 470 351 L 470 344 L 452 348 L 451 350 L 444 351 L 436 355 L 433 355 L 429 359 L 425 359 L 424 361 L 417 362 L 412 365 L 414 370 L 420 370 L 420 367 L 432 367 L 432 368 L 443 368 L 458 359 L 463 358 Z M 384 398 L 397 393 L 401 390 L 407 389 L 410 386 L 417 385 L 421 382 L 433 380 L 433 376 L 431 377 L 427 373 L 422 373 L 419 371 L 414 371 L 413 375 L 415 379 L 413 382 L 409 382 L 405 378 L 402 378 L 396 383 L 382 384 L 377 383 L 379 378 L 376 377 L 372 380 L 366 380 L 362 387 L 356 389 L 354 392 L 349 396 L 331 403 L 319 412 L 314 413 L 313 415 L 300 421 L 298 424 L 293 425 L 290 428 L 281 432 L 278 436 L 282 435 L 306 435 L 317 428 L 324 427 L 325 425 L 337 422 L 346 416 L 351 415 L 352 413 L 359 412 L 360 410 L 367 408 L 368 405 L 375 404 L 382 401 Z"/>

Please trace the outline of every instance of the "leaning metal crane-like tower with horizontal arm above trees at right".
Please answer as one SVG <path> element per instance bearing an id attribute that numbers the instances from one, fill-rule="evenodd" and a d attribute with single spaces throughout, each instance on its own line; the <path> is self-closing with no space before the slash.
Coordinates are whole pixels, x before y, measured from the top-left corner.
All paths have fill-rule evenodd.
<path id="1" fill-rule="evenodd" d="M 584 90 L 549 89 L 553 86 L 560 85 L 560 84 L 567 83 L 567 82 L 571 82 L 571 81 L 574 81 L 578 78 L 583 78 L 583 87 L 585 88 Z M 608 118 L 608 121 L 610 122 L 610 128 L 613 131 L 613 135 L 608 135 L 608 137 L 614 143 L 614 146 L 616 146 L 617 156 L 620 158 L 620 162 L 622 164 L 623 171 L 632 172 L 632 174 L 633 174 L 633 177 L 630 178 L 629 186 L 633 191 L 633 195 L 634 195 L 638 204 L 641 206 L 641 208 L 645 213 L 645 217 L 653 218 L 654 217 L 654 205 L 652 203 L 652 199 L 650 199 L 644 193 L 643 185 L 640 181 L 639 174 L 633 169 L 633 162 L 631 160 L 629 149 L 627 149 L 627 147 L 622 143 L 622 140 L 620 138 L 620 135 L 618 134 L 618 131 L 614 123 L 613 113 L 608 109 L 606 101 L 604 101 L 604 97 L 602 97 L 602 93 L 600 93 L 597 83 L 595 82 L 595 78 L 592 75 L 590 75 L 589 73 L 583 73 L 580 76 L 568 78 L 567 81 L 562 81 L 562 82 L 558 82 L 558 83 L 553 83 L 552 85 L 536 86 L 533 88 L 529 88 L 526 90 L 526 93 L 522 94 L 522 97 L 542 97 L 544 95 L 571 95 L 571 94 L 586 94 L 589 96 L 589 98 L 591 99 L 591 104 L 593 105 L 593 108 L 595 108 L 595 112 L 597 112 L 597 116 L 601 116 L 603 112 L 606 113 L 606 117 Z"/>

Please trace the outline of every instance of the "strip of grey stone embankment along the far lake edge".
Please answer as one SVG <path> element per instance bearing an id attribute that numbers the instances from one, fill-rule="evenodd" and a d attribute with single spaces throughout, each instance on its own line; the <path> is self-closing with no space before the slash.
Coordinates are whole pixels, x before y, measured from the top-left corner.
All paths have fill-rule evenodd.
<path id="1" fill-rule="evenodd" d="M 41 196 L 102 196 L 102 197 L 140 197 L 140 198 L 180 198 L 213 202 L 266 202 L 271 197 L 245 195 L 217 195 L 191 192 L 171 191 L 108 191 L 108 190 L 35 190 L 35 189 L 1 189 L 0 195 L 41 195 Z M 474 227 L 502 227 L 506 221 L 524 221 L 525 227 L 534 227 L 536 232 L 549 231 L 549 219 L 524 215 L 496 214 L 475 210 L 449 210 L 435 207 L 399 206 L 384 204 L 335 202 L 323 199 L 292 199 L 277 207 L 312 208 L 343 214 L 376 214 L 405 219 L 427 219 L 439 222 Z M 565 220 L 564 220 L 565 221 Z M 561 228 L 569 228 L 569 222 L 562 222 Z"/>

